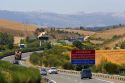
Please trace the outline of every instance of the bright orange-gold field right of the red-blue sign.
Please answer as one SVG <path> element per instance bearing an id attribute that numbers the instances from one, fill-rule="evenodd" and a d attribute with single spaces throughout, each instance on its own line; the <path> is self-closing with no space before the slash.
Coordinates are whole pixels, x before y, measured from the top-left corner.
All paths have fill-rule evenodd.
<path id="1" fill-rule="evenodd" d="M 96 64 L 99 64 L 104 58 L 112 63 L 125 64 L 125 50 L 97 50 Z"/>

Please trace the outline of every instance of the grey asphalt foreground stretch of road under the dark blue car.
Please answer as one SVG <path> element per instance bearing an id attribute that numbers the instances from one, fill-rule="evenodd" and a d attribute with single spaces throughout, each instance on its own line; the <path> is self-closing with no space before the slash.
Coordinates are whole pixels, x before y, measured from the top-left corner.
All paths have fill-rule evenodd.
<path id="1" fill-rule="evenodd" d="M 125 81 L 110 80 L 104 78 L 80 79 L 80 76 L 66 74 L 52 74 L 47 76 L 55 83 L 125 83 Z"/>

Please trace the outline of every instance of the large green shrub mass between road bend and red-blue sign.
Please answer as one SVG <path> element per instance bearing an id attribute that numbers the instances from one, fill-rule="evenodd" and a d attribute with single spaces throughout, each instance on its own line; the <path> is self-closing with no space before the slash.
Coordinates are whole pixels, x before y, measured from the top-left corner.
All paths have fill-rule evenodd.
<path id="1" fill-rule="evenodd" d="M 69 61 L 69 56 L 64 54 L 65 51 L 60 47 L 54 47 L 42 53 L 31 54 L 30 61 L 35 65 L 62 67 Z"/>

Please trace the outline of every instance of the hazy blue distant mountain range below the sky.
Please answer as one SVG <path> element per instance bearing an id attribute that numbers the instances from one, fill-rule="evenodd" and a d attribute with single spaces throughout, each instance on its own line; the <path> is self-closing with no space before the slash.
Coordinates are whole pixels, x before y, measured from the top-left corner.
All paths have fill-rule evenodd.
<path id="1" fill-rule="evenodd" d="M 0 19 L 48 27 L 97 27 L 125 24 L 125 13 L 77 13 L 69 15 L 1 10 Z"/>

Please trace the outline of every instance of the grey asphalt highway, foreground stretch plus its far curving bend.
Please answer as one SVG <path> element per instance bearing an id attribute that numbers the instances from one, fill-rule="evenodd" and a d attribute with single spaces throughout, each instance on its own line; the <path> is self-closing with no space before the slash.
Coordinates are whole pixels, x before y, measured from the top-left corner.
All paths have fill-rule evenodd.
<path id="1" fill-rule="evenodd" d="M 31 53 L 32 52 L 23 53 L 22 58 L 24 59 L 29 57 Z M 13 62 L 14 55 L 5 57 L 2 60 Z M 68 75 L 60 72 L 59 74 L 52 74 L 52 75 L 49 74 L 47 78 L 54 81 L 55 83 L 125 83 L 125 81 L 117 81 L 117 80 L 110 80 L 110 79 L 96 78 L 96 77 L 93 77 L 92 79 L 81 80 L 80 75 Z"/>

